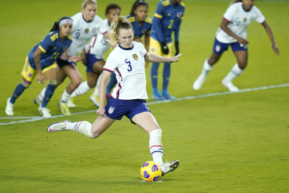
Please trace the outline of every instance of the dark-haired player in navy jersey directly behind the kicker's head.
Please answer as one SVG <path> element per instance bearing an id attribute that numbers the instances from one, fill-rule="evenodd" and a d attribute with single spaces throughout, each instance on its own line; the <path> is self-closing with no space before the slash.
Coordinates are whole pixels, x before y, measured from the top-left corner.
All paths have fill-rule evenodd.
<path id="1" fill-rule="evenodd" d="M 127 20 L 132 24 L 133 29 L 135 30 L 134 41 L 142 42 L 141 37 L 144 35 L 144 44 L 145 49 L 149 49 L 150 44 L 150 32 L 151 32 L 151 18 L 148 17 L 148 3 L 144 0 L 137 0 L 132 5 L 131 11 L 128 16 L 126 16 Z M 144 67 L 148 66 L 148 62 L 146 62 Z M 106 98 L 107 100 L 110 97 L 110 91 L 117 84 L 117 79 L 112 74 L 110 77 L 110 81 L 106 87 Z"/>

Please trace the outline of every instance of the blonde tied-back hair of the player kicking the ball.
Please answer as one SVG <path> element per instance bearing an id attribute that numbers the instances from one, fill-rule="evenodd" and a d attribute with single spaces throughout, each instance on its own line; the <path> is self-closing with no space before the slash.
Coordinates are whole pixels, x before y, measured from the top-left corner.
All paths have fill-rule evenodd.
<path id="1" fill-rule="evenodd" d="M 111 44 L 119 42 L 116 34 L 117 35 L 120 34 L 120 29 L 133 30 L 132 24 L 129 21 L 127 21 L 127 19 L 123 16 L 115 18 L 110 24 L 110 31 L 108 35 L 111 37 L 111 39 L 109 40 Z"/>

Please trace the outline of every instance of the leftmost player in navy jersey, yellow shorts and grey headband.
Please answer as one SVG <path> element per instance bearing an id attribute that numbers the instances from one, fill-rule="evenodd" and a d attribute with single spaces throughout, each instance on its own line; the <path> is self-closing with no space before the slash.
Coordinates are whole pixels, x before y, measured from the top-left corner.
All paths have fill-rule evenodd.
<path id="1" fill-rule="evenodd" d="M 5 108 L 7 115 L 14 115 L 15 100 L 30 86 L 35 75 L 38 74 L 38 82 L 43 84 L 46 79 L 47 84 L 47 89 L 43 93 L 43 100 L 38 110 L 43 117 L 51 117 L 46 105 L 51 99 L 57 83 L 56 71 L 58 67 L 54 62 L 66 52 L 72 43 L 72 37 L 69 35 L 72 23 L 70 17 L 61 17 L 58 22 L 54 23 L 50 33 L 30 50 L 21 73 L 23 79 L 15 88 L 13 95 L 7 99 Z M 77 62 L 80 57 L 73 56 L 68 59 Z"/>

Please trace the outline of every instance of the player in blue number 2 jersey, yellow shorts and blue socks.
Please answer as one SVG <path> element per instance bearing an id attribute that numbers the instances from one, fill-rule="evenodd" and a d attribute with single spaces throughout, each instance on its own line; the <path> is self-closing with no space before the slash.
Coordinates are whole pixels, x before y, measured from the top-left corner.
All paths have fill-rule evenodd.
<path id="1" fill-rule="evenodd" d="M 179 53 L 179 30 L 185 11 L 185 4 L 182 0 L 161 0 L 157 4 L 157 10 L 154 13 L 151 27 L 150 49 L 151 53 L 172 57 Z M 176 53 L 172 48 L 172 32 L 175 33 Z M 167 91 L 170 76 L 170 63 L 165 62 L 163 68 L 163 90 L 159 93 L 157 88 L 159 63 L 153 63 L 151 67 L 151 82 L 153 87 L 153 96 L 155 100 L 174 100 Z"/>

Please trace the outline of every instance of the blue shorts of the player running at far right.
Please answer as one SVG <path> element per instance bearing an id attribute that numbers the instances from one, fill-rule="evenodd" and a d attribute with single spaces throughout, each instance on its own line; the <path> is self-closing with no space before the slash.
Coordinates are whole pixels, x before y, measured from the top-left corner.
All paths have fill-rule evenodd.
<path id="1" fill-rule="evenodd" d="M 231 46 L 233 52 L 236 51 L 248 51 L 248 46 L 241 44 L 239 42 L 233 42 L 233 43 L 222 43 L 219 42 L 216 38 L 215 38 L 215 42 L 214 42 L 214 46 L 213 46 L 213 52 L 215 54 L 218 55 L 222 55 L 222 53 L 226 50 L 228 50 L 228 47 Z"/>

